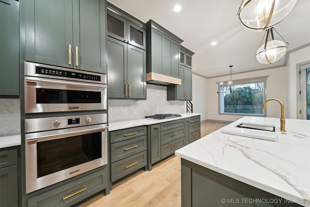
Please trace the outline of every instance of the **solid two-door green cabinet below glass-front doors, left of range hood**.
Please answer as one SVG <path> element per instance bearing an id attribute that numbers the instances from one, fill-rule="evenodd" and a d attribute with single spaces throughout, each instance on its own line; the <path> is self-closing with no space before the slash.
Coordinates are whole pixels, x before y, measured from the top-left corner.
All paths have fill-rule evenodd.
<path id="1" fill-rule="evenodd" d="M 146 99 L 145 50 L 108 36 L 108 97 Z"/>

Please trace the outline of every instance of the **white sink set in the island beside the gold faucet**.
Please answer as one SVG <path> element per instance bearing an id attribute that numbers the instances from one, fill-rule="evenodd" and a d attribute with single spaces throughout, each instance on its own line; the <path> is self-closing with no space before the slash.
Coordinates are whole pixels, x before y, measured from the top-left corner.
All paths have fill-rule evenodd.
<path id="1" fill-rule="evenodd" d="M 238 135 L 243 137 L 276 141 L 277 135 L 274 125 L 264 125 L 255 123 L 243 123 L 241 122 L 235 127 L 223 127 L 222 133 Z"/>

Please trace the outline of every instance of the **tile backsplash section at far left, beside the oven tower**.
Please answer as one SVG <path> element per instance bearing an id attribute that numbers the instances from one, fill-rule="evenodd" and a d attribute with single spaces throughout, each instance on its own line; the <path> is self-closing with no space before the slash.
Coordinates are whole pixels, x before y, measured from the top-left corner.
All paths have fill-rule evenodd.
<path id="1" fill-rule="evenodd" d="M 20 134 L 20 100 L 0 98 L 0 136 Z"/>

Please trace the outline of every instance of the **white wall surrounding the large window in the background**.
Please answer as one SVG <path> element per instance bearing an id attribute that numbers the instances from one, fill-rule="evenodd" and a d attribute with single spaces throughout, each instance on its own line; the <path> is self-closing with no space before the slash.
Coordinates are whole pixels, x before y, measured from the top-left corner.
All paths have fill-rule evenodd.
<path id="1" fill-rule="evenodd" d="M 232 80 L 242 80 L 268 76 L 266 80 L 266 95 L 268 98 L 278 98 L 284 104 L 284 114 L 286 114 L 286 68 L 278 67 L 272 69 L 259 70 L 254 72 L 232 75 Z M 207 83 L 207 115 L 209 120 L 235 121 L 243 116 L 218 114 L 218 94 L 217 82 L 227 82 L 230 76 L 208 79 Z M 267 117 L 280 117 L 280 105 L 276 101 L 268 102 L 266 106 Z"/>

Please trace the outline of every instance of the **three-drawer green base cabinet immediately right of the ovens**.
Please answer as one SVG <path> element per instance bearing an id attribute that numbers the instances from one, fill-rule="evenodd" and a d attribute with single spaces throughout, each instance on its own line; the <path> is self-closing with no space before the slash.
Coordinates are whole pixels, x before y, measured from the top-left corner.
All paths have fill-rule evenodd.
<path id="1" fill-rule="evenodd" d="M 109 132 L 111 181 L 115 182 L 147 165 L 147 127 Z"/>

